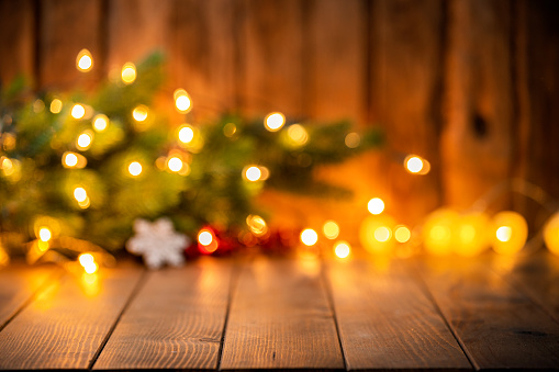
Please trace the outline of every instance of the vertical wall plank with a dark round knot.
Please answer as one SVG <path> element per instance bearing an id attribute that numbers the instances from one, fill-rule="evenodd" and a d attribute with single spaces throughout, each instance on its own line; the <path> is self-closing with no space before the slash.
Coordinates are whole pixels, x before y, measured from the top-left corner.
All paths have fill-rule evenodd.
<path id="1" fill-rule="evenodd" d="M 441 176 L 445 203 L 468 208 L 512 172 L 515 133 L 506 0 L 449 1 Z M 494 203 L 506 207 L 508 200 Z"/>

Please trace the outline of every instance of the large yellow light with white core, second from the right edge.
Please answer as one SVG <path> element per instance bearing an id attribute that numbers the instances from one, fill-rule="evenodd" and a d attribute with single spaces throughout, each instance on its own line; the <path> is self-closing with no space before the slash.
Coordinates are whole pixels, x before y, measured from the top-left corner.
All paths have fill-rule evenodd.
<path id="1" fill-rule="evenodd" d="M 493 216 L 493 250 L 501 255 L 513 255 L 522 250 L 528 238 L 528 224 L 524 217 L 512 211 Z"/>

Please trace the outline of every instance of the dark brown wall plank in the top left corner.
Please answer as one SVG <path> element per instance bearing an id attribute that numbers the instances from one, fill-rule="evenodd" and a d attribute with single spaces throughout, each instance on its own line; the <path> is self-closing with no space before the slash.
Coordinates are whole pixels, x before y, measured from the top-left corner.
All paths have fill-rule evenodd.
<path id="1" fill-rule="evenodd" d="M 33 79 L 35 68 L 35 9 L 32 0 L 0 1 L 1 86 L 19 74 Z"/>

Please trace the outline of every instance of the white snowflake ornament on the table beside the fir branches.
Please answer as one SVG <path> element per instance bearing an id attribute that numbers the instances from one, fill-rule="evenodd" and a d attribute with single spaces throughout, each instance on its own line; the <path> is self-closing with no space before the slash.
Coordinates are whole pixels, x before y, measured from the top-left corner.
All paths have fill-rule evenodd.
<path id="1" fill-rule="evenodd" d="M 159 269 L 165 263 L 174 267 L 185 263 L 182 252 L 190 239 L 175 232 L 169 218 L 163 217 L 154 223 L 138 218 L 134 221 L 134 233 L 126 241 L 126 249 L 134 255 L 142 255 L 148 269 Z"/>

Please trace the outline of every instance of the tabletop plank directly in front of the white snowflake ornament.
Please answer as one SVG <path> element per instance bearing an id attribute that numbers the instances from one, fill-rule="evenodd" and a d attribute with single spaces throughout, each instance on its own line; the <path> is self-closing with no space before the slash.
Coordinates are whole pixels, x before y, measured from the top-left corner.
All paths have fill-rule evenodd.
<path id="1" fill-rule="evenodd" d="M 150 273 L 94 369 L 216 369 L 232 268 L 208 259 Z"/>

